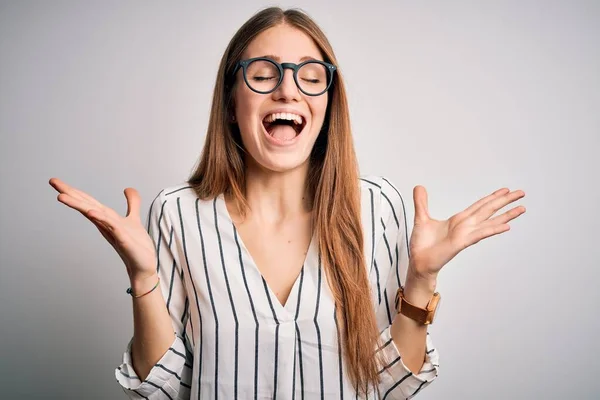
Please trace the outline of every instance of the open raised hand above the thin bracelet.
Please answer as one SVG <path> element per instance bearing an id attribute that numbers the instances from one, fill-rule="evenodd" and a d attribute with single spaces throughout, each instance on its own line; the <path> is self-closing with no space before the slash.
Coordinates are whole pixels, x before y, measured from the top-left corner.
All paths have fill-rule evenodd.
<path id="1" fill-rule="evenodd" d="M 137 190 L 125 189 L 127 214 L 122 217 L 92 196 L 69 186 L 58 178 L 51 178 L 49 183 L 59 192 L 58 201 L 79 211 L 92 221 L 102 236 L 117 251 L 125 263 L 132 286 L 134 284 L 145 286 L 144 282 L 156 275 L 156 249 L 140 219 L 141 198 Z"/>

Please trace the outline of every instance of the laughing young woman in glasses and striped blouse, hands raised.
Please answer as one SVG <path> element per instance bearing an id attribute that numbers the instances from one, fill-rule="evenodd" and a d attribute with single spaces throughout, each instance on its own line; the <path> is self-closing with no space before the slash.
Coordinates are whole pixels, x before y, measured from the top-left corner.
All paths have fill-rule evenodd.
<path id="1" fill-rule="evenodd" d="M 491 218 L 524 196 L 500 189 L 438 221 L 417 186 L 409 243 L 398 190 L 359 178 L 331 45 L 279 8 L 231 40 L 199 165 L 147 227 L 135 189 L 121 217 L 50 183 L 127 267 L 134 335 L 115 374 L 133 399 L 410 398 L 438 374 L 440 269 L 525 211 Z"/>

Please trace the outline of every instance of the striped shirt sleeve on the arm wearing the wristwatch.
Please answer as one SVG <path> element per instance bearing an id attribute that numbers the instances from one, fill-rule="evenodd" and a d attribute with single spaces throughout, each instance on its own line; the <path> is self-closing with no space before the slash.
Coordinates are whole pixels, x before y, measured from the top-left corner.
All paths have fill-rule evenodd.
<path id="1" fill-rule="evenodd" d="M 419 373 L 413 374 L 392 340 L 390 328 L 396 315 L 396 292 L 404 284 L 408 270 L 409 235 L 403 197 L 385 177 L 378 183 L 381 186 L 380 220 L 375 223 L 380 224 L 382 235 L 373 258 L 373 268 L 378 275 L 376 315 L 381 330 L 381 347 L 377 351 L 387 361 L 379 371 L 379 391 L 382 399 L 411 399 L 438 376 L 439 354 L 427 332 L 425 360 Z"/>

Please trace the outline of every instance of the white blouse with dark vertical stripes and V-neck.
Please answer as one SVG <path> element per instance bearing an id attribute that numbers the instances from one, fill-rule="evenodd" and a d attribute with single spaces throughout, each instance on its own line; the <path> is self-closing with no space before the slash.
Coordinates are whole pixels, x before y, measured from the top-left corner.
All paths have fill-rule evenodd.
<path id="1" fill-rule="evenodd" d="M 361 178 L 366 266 L 389 365 L 384 399 L 411 398 L 438 374 L 427 335 L 418 375 L 390 336 L 396 290 L 408 266 L 403 199 L 385 178 Z M 150 206 L 148 231 L 158 254 L 160 289 L 176 338 L 140 382 L 131 343 L 115 376 L 132 399 L 355 399 L 340 353 L 334 299 L 313 238 L 304 266 L 282 305 L 237 234 L 224 197 L 200 200 L 182 184 Z M 343 348 L 343 347 L 342 347 Z M 375 391 L 369 396 L 376 399 Z"/>

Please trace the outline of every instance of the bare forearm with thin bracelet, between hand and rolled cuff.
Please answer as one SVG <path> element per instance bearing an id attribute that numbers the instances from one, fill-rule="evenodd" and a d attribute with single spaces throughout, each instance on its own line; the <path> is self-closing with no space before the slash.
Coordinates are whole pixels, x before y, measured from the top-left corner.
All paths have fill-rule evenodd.
<path id="1" fill-rule="evenodd" d="M 132 281 L 134 294 L 146 293 L 156 284 L 156 275 Z M 143 381 L 152 367 L 169 349 L 175 333 L 160 287 L 140 298 L 133 298 L 133 343 L 131 357 L 138 377 Z"/>

